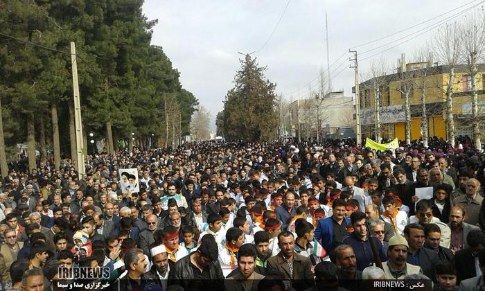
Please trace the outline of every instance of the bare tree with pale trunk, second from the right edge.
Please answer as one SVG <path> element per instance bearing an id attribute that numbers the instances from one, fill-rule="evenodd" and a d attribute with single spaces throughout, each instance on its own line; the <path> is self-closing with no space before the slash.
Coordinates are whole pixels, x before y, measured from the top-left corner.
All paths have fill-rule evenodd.
<path id="1" fill-rule="evenodd" d="M 434 37 L 434 52 L 438 61 L 443 63 L 450 73 L 446 82 L 446 130 L 448 142 L 455 147 L 455 121 L 453 118 L 453 83 L 455 69 L 459 64 L 461 53 L 461 29 L 457 22 L 440 28 Z M 442 84 L 438 85 L 441 88 Z"/>

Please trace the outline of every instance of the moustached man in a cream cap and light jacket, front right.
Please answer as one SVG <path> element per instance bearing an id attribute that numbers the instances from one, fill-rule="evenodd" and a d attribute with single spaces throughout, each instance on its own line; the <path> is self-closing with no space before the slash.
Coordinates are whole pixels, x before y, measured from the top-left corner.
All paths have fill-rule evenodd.
<path id="1" fill-rule="evenodd" d="M 382 268 L 386 279 L 404 279 L 410 274 L 423 274 L 421 267 L 406 263 L 407 251 L 409 245 L 407 240 L 396 234 L 389 240 L 389 249 L 387 249 L 387 262 L 382 262 Z"/>

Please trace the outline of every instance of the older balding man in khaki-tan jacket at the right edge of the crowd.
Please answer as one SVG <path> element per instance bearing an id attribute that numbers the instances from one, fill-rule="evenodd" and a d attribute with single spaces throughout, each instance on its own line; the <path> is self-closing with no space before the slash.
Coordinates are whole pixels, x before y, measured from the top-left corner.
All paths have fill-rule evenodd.
<path id="1" fill-rule="evenodd" d="M 452 202 L 452 206 L 459 205 L 466 211 L 465 222 L 477 225 L 479 222 L 479 215 L 481 215 L 481 221 L 483 220 L 483 207 L 482 202 L 484 198 L 479 195 L 480 182 L 477 179 L 468 179 L 466 182 L 466 195 L 455 198 Z M 482 211 L 481 211 L 482 208 Z M 485 226 L 485 224 L 484 224 Z"/>

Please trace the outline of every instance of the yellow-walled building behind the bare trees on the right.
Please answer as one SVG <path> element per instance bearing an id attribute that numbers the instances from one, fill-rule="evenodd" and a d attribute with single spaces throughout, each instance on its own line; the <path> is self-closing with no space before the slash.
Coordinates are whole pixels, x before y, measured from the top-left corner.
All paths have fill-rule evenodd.
<path id="1" fill-rule="evenodd" d="M 400 71 L 405 70 L 401 74 Z M 485 115 L 485 64 L 478 66 L 477 91 L 479 114 Z M 401 75 L 405 77 L 402 78 Z M 430 67 L 425 62 L 406 64 L 398 68 L 398 73 L 370 79 L 359 85 L 362 134 L 373 136 L 375 132 L 374 97 L 380 91 L 380 121 L 382 138 L 397 137 L 405 139 L 403 84 L 408 84 L 409 108 L 411 112 L 411 140 L 420 139 L 422 116 L 422 89 L 425 91 L 428 136 L 447 139 L 446 136 L 446 87 L 450 70 L 446 66 Z M 374 82 L 378 80 L 378 82 Z M 376 86 L 375 84 L 380 84 Z M 471 78 L 465 66 L 455 69 L 453 85 L 453 115 L 455 117 L 455 136 L 471 136 Z M 483 129 L 483 125 L 482 125 Z M 424 129 L 423 129 L 424 130 Z M 482 130 L 483 134 L 483 130 Z"/>

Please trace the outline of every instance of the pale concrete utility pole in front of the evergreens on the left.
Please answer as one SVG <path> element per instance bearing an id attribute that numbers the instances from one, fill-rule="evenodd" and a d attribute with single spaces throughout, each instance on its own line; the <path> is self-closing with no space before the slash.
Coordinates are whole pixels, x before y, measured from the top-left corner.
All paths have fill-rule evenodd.
<path id="1" fill-rule="evenodd" d="M 76 125 L 76 154 L 78 159 L 78 174 L 79 179 L 85 176 L 85 157 L 82 141 L 82 119 L 81 119 L 81 103 L 79 98 L 79 84 L 78 84 L 78 62 L 76 61 L 76 44 L 71 42 L 71 63 L 73 71 L 73 94 L 74 94 L 74 124 Z"/>

